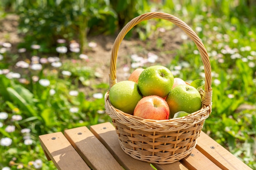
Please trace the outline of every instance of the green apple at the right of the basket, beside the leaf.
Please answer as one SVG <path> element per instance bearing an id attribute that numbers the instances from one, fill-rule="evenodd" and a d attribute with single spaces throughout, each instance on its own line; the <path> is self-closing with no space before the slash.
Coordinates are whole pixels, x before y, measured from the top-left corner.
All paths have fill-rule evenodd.
<path id="1" fill-rule="evenodd" d="M 173 118 L 174 114 L 180 111 L 193 113 L 200 110 L 202 106 L 200 93 L 188 84 L 173 88 L 166 97 L 166 102 L 170 109 L 170 118 Z"/>

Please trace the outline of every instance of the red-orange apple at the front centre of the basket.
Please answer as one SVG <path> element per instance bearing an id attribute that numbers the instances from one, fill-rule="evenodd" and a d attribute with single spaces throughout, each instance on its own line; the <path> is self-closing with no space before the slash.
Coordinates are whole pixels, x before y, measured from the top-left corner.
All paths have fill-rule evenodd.
<path id="1" fill-rule="evenodd" d="M 152 95 L 138 102 L 133 115 L 144 119 L 164 120 L 169 118 L 169 113 L 167 102 L 162 97 Z"/>

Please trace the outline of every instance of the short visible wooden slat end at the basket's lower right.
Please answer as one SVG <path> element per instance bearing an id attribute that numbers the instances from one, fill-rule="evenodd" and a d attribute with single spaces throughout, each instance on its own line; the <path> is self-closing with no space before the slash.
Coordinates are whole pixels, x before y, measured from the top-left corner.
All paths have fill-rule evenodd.
<path id="1" fill-rule="evenodd" d="M 191 156 L 193 155 L 193 156 Z M 205 157 L 199 150 L 194 148 L 191 155 L 180 160 L 189 170 L 221 170 L 211 160 Z"/>

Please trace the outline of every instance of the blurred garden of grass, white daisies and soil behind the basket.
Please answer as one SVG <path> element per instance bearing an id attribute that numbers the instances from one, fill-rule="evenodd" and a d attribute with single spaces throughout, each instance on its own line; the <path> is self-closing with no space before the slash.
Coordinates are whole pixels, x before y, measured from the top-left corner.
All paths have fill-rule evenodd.
<path id="1" fill-rule="evenodd" d="M 39 135 L 111 121 L 104 94 L 112 44 L 150 11 L 175 15 L 202 39 L 213 79 L 203 131 L 256 169 L 254 0 L 1 0 L 0 169 L 56 169 Z M 204 79 L 195 44 L 164 20 L 132 29 L 117 63 L 117 81 L 156 64 L 187 82 Z"/>

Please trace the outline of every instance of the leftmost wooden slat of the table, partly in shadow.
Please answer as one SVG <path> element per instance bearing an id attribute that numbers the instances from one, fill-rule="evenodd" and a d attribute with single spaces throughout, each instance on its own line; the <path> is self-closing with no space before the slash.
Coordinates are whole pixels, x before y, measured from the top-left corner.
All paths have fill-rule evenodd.
<path id="1" fill-rule="evenodd" d="M 90 170 L 61 132 L 40 135 L 39 141 L 58 170 Z"/>

